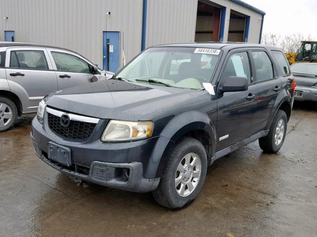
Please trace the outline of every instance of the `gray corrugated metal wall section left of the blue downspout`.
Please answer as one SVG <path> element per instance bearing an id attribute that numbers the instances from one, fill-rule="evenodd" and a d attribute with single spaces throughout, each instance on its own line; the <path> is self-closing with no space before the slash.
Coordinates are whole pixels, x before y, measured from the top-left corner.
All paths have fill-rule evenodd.
<path id="1" fill-rule="evenodd" d="M 103 31 L 119 31 L 126 59 L 141 51 L 142 0 L 1 0 L 0 41 L 15 40 L 75 50 L 103 65 Z M 110 15 L 106 12 L 110 11 Z M 7 16 L 8 19 L 3 19 Z"/>

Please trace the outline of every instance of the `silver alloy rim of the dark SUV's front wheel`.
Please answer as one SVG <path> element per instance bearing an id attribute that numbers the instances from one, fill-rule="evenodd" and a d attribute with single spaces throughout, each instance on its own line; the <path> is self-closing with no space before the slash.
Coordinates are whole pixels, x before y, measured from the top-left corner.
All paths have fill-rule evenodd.
<path id="1" fill-rule="evenodd" d="M 201 159 L 189 153 L 181 159 L 175 173 L 175 190 L 180 197 L 187 197 L 196 189 L 202 172 Z"/>

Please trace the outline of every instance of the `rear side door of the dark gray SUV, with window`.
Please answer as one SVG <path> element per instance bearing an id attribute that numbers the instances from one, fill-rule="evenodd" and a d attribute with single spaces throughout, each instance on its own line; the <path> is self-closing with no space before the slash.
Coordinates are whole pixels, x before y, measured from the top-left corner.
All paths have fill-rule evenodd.
<path id="1" fill-rule="evenodd" d="M 262 130 L 267 124 L 278 93 L 282 91 L 282 81 L 266 50 L 252 50 L 251 55 L 254 63 L 254 78 L 259 92 L 257 119 L 259 130 Z"/>

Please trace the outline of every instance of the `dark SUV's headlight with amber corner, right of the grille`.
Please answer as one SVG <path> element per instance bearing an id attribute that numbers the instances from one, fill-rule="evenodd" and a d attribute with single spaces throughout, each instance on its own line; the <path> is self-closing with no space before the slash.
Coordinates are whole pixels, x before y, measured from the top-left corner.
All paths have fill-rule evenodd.
<path id="1" fill-rule="evenodd" d="M 101 137 L 103 142 L 135 141 L 152 136 L 153 122 L 110 120 Z"/>

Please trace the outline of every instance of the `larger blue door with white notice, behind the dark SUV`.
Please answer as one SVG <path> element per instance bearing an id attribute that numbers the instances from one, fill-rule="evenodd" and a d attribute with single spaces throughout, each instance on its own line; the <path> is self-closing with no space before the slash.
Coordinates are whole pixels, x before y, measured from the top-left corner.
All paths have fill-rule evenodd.
<path id="1" fill-rule="evenodd" d="M 119 67 L 120 38 L 117 31 L 104 31 L 104 70 L 115 72 Z"/>

